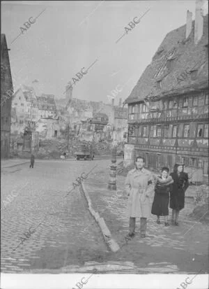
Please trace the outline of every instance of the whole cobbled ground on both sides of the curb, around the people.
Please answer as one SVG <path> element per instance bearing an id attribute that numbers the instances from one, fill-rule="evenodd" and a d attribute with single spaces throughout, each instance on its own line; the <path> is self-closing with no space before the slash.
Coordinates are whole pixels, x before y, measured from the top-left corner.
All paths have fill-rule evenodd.
<path id="1" fill-rule="evenodd" d="M 137 223 L 136 237 L 111 253 L 79 190 L 64 197 L 72 182 L 95 164 L 98 167 L 85 181 L 86 190 L 112 237 L 123 246 L 128 229 L 127 199 L 122 192 L 117 196 L 107 190 L 110 160 L 37 160 L 33 169 L 22 164 L 1 170 L 1 272 L 63 272 L 63 268 L 78 272 L 99 265 L 100 272 L 108 272 L 108 266 L 117 272 L 117 264 L 132 265 L 139 273 L 208 272 L 209 227 L 189 218 L 193 204 L 188 199 L 179 227 L 164 227 L 163 222 L 157 225 L 152 216 L 145 239 L 139 237 Z M 124 181 L 117 176 L 118 190 L 123 190 Z M 11 192 L 14 197 L 8 202 Z M 21 244 L 29 228 L 32 233 Z"/>

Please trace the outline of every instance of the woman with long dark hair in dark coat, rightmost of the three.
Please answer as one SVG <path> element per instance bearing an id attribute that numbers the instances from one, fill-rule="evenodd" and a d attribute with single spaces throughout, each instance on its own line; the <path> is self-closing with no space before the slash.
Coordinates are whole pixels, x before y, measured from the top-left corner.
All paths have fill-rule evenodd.
<path id="1" fill-rule="evenodd" d="M 178 226 L 179 211 L 185 207 L 185 191 L 189 187 L 188 174 L 183 171 L 184 164 L 175 164 L 173 167 L 173 188 L 170 195 L 172 223 Z"/>

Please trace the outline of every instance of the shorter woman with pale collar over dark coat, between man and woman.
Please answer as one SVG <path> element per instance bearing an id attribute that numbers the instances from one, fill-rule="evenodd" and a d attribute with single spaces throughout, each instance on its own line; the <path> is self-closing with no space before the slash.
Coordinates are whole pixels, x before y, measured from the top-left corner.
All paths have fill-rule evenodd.
<path id="1" fill-rule="evenodd" d="M 160 177 L 156 177 L 155 197 L 151 213 L 157 216 L 157 224 L 160 224 L 160 216 L 164 216 L 164 225 L 169 226 L 169 192 L 172 190 L 173 178 L 169 176 L 169 168 L 163 167 Z"/>

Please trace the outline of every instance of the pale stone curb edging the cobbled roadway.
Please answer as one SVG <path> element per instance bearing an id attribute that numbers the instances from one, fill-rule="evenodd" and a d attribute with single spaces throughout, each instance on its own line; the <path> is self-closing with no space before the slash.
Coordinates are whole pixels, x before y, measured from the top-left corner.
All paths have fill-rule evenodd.
<path id="1" fill-rule="evenodd" d="M 101 218 L 100 214 L 98 212 L 95 212 L 94 209 L 92 208 L 91 199 L 88 195 L 88 192 L 86 191 L 84 183 L 81 184 L 81 188 L 88 202 L 88 210 L 90 211 L 91 215 L 93 216 L 93 218 L 95 218 L 96 222 L 100 226 L 105 243 L 109 246 L 112 252 L 114 253 L 117 252 L 118 250 L 120 250 L 120 246 L 116 243 L 114 239 L 111 238 L 111 232 L 109 231 L 106 223 L 104 222 L 104 219 Z"/>

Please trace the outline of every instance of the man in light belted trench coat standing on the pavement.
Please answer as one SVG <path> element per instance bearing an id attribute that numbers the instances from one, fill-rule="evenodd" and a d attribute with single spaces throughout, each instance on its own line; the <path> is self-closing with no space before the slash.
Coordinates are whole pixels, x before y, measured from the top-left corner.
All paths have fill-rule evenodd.
<path id="1" fill-rule="evenodd" d="M 125 190 L 128 195 L 127 214 L 130 218 L 128 237 L 134 237 L 136 218 L 140 218 L 141 237 L 146 237 L 147 218 L 150 217 L 150 193 L 153 192 L 153 175 L 144 169 L 144 157 L 137 157 L 135 169 L 128 172 Z"/>

